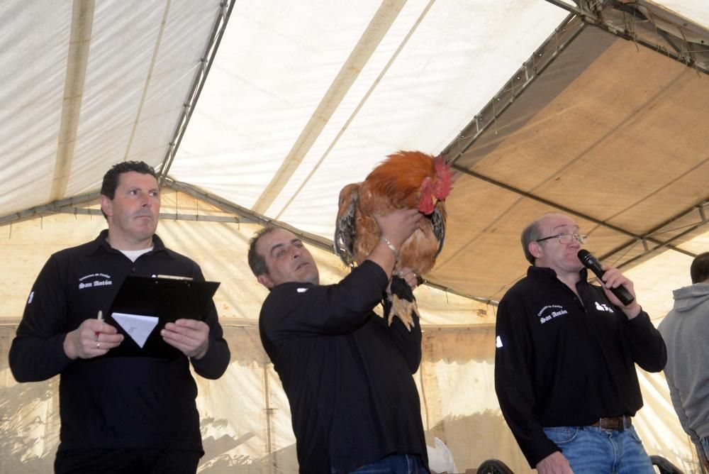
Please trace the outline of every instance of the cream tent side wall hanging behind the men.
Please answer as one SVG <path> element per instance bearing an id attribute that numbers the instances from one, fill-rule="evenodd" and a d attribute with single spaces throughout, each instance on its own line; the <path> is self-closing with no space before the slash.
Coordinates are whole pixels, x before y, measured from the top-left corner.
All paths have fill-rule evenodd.
<path id="1" fill-rule="evenodd" d="M 167 193 L 166 193 L 167 194 Z M 164 201 L 168 199 L 164 195 Z M 205 203 L 172 196 L 170 212 L 218 214 Z M 95 204 L 94 204 L 95 208 Z M 175 207 L 177 209 L 177 207 Z M 18 384 L 7 361 L 26 295 L 52 252 L 88 241 L 105 227 L 99 216 L 58 214 L 0 227 L 0 471 L 47 472 L 59 442 L 58 378 Z M 257 315 L 266 290 L 246 265 L 247 243 L 257 226 L 163 219 L 158 233 L 170 248 L 198 261 L 208 280 L 220 280 L 215 297 L 232 361 L 219 380 L 196 377 L 205 456 L 201 472 L 291 473 L 296 471 L 289 405 L 259 341 Z M 218 249 L 218 252 L 215 252 Z M 334 255 L 313 250 L 323 282 L 344 275 Z M 494 329 L 491 309 L 422 287 L 423 362 L 414 375 L 428 444 L 442 439 L 460 470 L 498 458 L 515 473 L 530 472 L 497 403 L 494 390 Z M 429 294 L 430 293 L 430 294 Z M 428 295 L 427 295 L 428 294 Z M 452 312 L 470 324 L 445 323 Z M 479 321 L 478 324 L 474 324 Z M 693 451 L 669 402 L 664 377 L 640 373 L 645 407 L 635 420 L 649 453 L 692 472 Z"/>

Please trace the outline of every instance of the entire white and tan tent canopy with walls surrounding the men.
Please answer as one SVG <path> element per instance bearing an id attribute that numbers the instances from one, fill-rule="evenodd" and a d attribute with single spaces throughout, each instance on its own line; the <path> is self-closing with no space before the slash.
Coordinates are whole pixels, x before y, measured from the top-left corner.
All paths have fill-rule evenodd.
<path id="1" fill-rule="evenodd" d="M 104 225 L 96 197 L 108 167 L 154 165 L 165 183 L 158 233 L 223 282 L 216 301 L 236 362 L 200 382 L 203 417 L 228 420 L 203 420 L 204 436 L 253 436 L 207 449 L 205 472 L 239 456 L 259 472 L 294 469 L 287 403 L 253 332 L 264 292 L 247 239 L 267 222 L 289 226 L 323 249 L 336 280 L 337 194 L 389 153 L 442 153 L 456 172 L 446 246 L 418 290 L 429 345 L 417 381 L 429 443 L 444 439 L 459 468 L 498 457 L 527 469 L 496 404 L 490 338 L 496 301 L 525 272 L 518 239 L 531 219 L 574 216 L 656 323 L 709 243 L 704 0 L 10 0 L 0 22 L 10 65 L 0 341 L 48 255 Z M 24 390 L 3 368 L 0 393 Z M 643 383 L 646 446 L 690 470 L 664 380 Z M 243 407 L 225 402 L 234 390 Z M 282 439 L 264 434 L 266 394 L 283 412 L 272 430 Z M 12 426 L 26 428 L 28 409 Z M 56 436 L 34 451 L 0 440 L 0 471 L 48 462 Z"/>

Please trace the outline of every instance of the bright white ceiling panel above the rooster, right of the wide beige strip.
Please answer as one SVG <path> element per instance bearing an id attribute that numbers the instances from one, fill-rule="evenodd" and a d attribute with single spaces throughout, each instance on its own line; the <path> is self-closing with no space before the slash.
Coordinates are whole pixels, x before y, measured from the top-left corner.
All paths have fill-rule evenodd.
<path id="1" fill-rule="evenodd" d="M 474 16 L 472 11 L 460 11 L 457 18 L 436 18 L 437 11 L 430 11 L 337 143 L 323 143 L 323 147 L 333 147 L 328 151 L 328 158 L 315 170 L 306 186 L 291 197 L 288 207 L 279 211 L 279 219 L 330 236 L 334 230 L 337 194 L 345 184 L 362 180 L 386 155 L 401 148 L 437 154 L 454 137 L 450 131 L 461 129 L 469 121 L 470 111 L 484 103 L 466 91 L 475 88 L 493 92 L 501 82 L 495 78 L 510 75 L 537 44 L 531 38 L 540 31 L 529 28 L 529 18 L 525 16 L 530 12 L 521 6 L 510 10 L 515 14 L 510 13 L 504 27 L 481 12 Z M 554 21 L 559 19 L 554 18 Z M 438 29 L 441 21 L 447 23 L 443 30 Z M 474 28 L 483 21 L 488 21 L 489 26 Z M 509 57 L 491 57 L 484 53 L 490 41 L 501 39 L 495 28 L 510 31 L 507 29 L 510 23 L 517 26 L 511 31 L 519 31 L 520 35 L 525 31 L 524 40 L 510 38 L 510 41 L 517 40 L 520 46 L 510 49 Z M 489 39 L 476 43 L 473 35 L 483 32 L 483 38 Z M 436 67 L 439 60 L 447 57 L 441 52 L 448 49 L 461 51 L 457 55 L 459 64 L 445 67 L 441 63 Z M 382 134 L 381 130 L 386 133 Z M 368 153 L 362 153 L 363 143 L 371 144 L 367 146 Z M 347 166 L 353 162 L 357 167 Z M 327 196 L 334 199 L 323 199 Z M 318 222 L 309 217 L 313 210 L 333 219 Z"/>

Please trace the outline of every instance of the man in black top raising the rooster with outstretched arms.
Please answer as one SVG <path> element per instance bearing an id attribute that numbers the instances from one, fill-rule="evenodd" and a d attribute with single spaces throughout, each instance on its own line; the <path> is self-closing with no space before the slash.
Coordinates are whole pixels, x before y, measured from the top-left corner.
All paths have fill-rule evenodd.
<path id="1" fill-rule="evenodd" d="M 376 216 L 379 243 L 336 285 L 319 285 L 313 257 L 289 231 L 264 228 L 250 242 L 249 265 L 270 290 L 261 341 L 289 399 L 301 473 L 429 472 L 412 377 L 421 360 L 418 316 L 408 331 L 372 312 L 421 216 Z M 415 287 L 411 270 L 401 277 Z"/>

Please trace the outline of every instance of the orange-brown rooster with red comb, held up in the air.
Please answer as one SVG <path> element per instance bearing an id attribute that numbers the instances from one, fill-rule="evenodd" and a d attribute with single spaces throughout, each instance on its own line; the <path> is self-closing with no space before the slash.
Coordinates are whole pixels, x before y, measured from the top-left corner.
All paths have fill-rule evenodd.
<path id="1" fill-rule="evenodd" d="M 418 315 L 411 287 L 398 277 L 401 268 L 416 275 L 430 272 L 443 247 L 445 237 L 445 198 L 452 189 L 452 172 L 442 157 L 418 151 L 399 151 L 389 155 L 363 182 L 347 184 L 340 191 L 340 206 L 335 224 L 335 251 L 345 265 L 359 265 L 379 243 L 379 226 L 374 214 L 394 209 L 418 208 L 425 214 L 418 228 L 399 249 L 391 285 L 382 299 L 384 317 L 389 325 L 397 316 L 406 328 L 413 327 L 412 313 Z"/>

